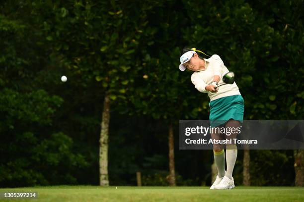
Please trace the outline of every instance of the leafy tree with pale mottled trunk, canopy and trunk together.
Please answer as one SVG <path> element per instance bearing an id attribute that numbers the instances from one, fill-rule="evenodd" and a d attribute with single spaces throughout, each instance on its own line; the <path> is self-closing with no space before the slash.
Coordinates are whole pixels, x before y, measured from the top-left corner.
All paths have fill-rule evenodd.
<path id="1" fill-rule="evenodd" d="M 129 85 L 141 69 L 137 57 L 146 26 L 146 12 L 153 1 L 77 1 L 36 3 L 35 13 L 45 10 L 41 24 L 53 44 L 54 57 L 63 67 L 82 75 L 82 82 L 100 82 L 104 94 L 100 132 L 100 185 L 108 182 L 108 128 L 110 106 L 126 102 Z M 135 68 L 137 67 L 137 68 Z"/>

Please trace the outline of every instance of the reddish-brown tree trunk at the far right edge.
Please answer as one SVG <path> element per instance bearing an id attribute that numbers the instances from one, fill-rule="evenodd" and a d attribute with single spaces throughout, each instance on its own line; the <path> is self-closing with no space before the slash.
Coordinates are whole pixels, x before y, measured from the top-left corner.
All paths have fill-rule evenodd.
<path id="1" fill-rule="evenodd" d="M 295 185 L 296 186 L 304 186 L 304 150 L 294 150 L 295 157 Z"/>

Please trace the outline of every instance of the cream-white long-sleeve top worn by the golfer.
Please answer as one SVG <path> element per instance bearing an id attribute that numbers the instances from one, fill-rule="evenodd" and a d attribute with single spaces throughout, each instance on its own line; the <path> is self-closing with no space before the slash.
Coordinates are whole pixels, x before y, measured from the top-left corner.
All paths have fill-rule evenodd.
<path id="1" fill-rule="evenodd" d="M 214 101 L 219 98 L 240 95 L 238 87 L 236 83 L 227 84 L 224 86 L 220 86 L 217 93 L 212 93 L 210 91 L 206 91 L 205 87 L 213 81 L 215 75 L 219 75 L 221 80 L 218 82 L 219 85 L 225 84 L 223 82 L 223 76 L 229 72 L 227 67 L 224 65 L 223 60 L 217 54 L 212 55 L 209 59 L 205 59 L 205 69 L 193 72 L 191 75 L 191 81 L 194 84 L 195 88 L 202 92 L 208 93 L 210 101 Z"/>

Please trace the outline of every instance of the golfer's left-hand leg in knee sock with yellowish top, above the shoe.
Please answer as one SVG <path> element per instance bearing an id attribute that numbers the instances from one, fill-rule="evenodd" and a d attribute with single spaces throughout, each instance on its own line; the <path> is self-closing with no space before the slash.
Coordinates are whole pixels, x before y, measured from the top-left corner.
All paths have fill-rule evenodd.
<path id="1" fill-rule="evenodd" d="M 221 134 L 212 133 L 211 134 L 212 139 L 214 140 L 220 140 Z M 225 176 L 225 152 L 224 152 L 224 145 L 221 144 L 213 144 L 213 156 L 214 161 L 217 165 L 218 169 L 218 176 L 224 177 Z"/>

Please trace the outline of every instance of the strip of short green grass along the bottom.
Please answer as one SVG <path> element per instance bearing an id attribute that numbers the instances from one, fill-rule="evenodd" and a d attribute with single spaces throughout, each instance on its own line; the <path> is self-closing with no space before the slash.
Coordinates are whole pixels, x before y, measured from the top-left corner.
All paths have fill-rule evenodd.
<path id="1" fill-rule="evenodd" d="M 304 188 L 236 187 L 209 190 L 209 187 L 98 187 L 56 186 L 0 189 L 3 192 L 37 192 L 32 202 L 304 202 Z M 0 201 L 23 201 L 3 200 Z"/>

